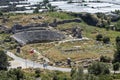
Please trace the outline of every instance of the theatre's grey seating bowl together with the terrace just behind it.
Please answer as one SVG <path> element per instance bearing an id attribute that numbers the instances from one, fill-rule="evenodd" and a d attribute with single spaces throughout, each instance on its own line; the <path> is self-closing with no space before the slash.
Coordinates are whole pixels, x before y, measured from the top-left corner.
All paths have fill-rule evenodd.
<path id="1" fill-rule="evenodd" d="M 64 34 L 48 27 L 26 27 L 14 29 L 12 37 L 20 44 L 58 41 L 65 38 Z"/>

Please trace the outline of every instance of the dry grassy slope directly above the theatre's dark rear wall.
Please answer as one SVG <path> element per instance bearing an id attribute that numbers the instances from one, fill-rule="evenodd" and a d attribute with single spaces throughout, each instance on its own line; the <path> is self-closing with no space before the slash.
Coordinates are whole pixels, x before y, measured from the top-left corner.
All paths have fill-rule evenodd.
<path id="1" fill-rule="evenodd" d="M 3 23 L 3 19 L 0 19 L 0 24 L 3 24 L 7 26 L 8 28 L 11 28 L 13 24 L 19 23 L 21 25 L 28 25 L 31 23 L 43 23 L 43 22 L 53 22 L 55 18 L 57 20 L 63 20 L 63 19 L 72 19 L 74 17 L 67 15 L 64 12 L 46 12 L 46 13 L 38 13 L 38 14 L 14 14 L 9 13 L 5 14 L 4 17 L 7 18 L 7 21 Z M 38 18 L 41 17 L 41 18 Z"/>

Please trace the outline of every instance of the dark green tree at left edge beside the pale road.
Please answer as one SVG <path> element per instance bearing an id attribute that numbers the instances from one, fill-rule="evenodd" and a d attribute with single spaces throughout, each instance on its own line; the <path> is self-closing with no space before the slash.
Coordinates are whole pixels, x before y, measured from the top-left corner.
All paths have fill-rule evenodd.
<path id="1" fill-rule="evenodd" d="M 0 70 L 7 70 L 9 67 L 7 55 L 3 50 L 0 50 Z"/>

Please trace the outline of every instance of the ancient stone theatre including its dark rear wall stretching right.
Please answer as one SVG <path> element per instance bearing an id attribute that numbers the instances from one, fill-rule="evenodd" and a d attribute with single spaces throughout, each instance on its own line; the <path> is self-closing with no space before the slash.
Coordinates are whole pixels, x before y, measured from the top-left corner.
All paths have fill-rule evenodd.
<path id="1" fill-rule="evenodd" d="M 53 23 L 38 23 L 22 26 L 16 24 L 12 27 L 12 37 L 20 44 L 35 42 L 58 41 L 65 39 L 65 35 L 54 29 L 57 25 L 76 22 L 80 23 L 81 19 L 53 21 Z M 52 29 L 49 27 L 51 26 Z"/>

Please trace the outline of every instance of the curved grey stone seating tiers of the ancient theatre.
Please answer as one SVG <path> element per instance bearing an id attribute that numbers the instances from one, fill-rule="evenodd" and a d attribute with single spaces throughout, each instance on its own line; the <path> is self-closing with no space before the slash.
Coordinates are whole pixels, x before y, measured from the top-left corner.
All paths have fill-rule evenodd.
<path id="1" fill-rule="evenodd" d="M 15 33 L 12 36 L 20 44 L 44 42 L 44 41 L 57 41 L 62 40 L 65 36 L 57 31 L 51 30 L 31 30 Z"/>

